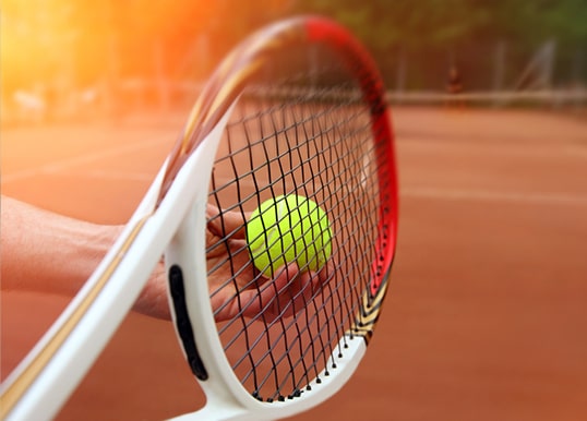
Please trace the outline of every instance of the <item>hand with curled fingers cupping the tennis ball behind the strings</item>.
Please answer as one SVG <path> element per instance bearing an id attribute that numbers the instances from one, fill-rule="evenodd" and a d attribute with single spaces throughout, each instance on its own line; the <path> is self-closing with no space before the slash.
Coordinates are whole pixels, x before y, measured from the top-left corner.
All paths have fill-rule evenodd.
<path id="1" fill-rule="evenodd" d="M 212 205 L 206 208 L 206 248 L 224 243 L 211 249 L 206 255 L 208 272 L 211 267 L 218 266 L 207 279 L 217 322 L 239 314 L 244 317 L 262 315 L 265 321 L 291 316 L 303 309 L 316 290 L 327 281 L 331 264 L 314 273 L 300 272 L 298 265 L 291 263 L 278 268 L 273 278 L 257 276 L 247 250 L 243 215 L 223 211 L 223 217 L 216 218 L 219 212 Z M 232 234 L 226 239 L 225 233 L 229 232 Z M 232 273 L 238 275 L 232 277 Z M 228 279 L 231 280 L 225 285 Z M 170 318 L 163 262 L 149 278 L 134 310 L 157 318 Z"/>

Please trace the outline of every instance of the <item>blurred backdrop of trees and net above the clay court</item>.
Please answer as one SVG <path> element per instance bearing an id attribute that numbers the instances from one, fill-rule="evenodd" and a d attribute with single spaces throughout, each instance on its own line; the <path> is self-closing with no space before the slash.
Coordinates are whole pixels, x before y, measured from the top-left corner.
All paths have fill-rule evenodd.
<path id="1" fill-rule="evenodd" d="M 585 106 L 584 0 L 5 0 L 2 122 L 181 105 L 243 36 L 299 13 L 354 31 L 395 103 L 442 100 L 453 69 L 470 101 Z"/>

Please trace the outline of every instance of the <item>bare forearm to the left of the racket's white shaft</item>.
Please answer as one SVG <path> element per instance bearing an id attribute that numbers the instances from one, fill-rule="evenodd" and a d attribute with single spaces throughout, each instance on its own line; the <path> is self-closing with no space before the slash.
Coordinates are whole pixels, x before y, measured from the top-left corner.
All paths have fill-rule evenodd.
<path id="1" fill-rule="evenodd" d="M 2 196 L 2 289 L 73 296 L 113 243 L 112 227 L 38 209 Z"/>

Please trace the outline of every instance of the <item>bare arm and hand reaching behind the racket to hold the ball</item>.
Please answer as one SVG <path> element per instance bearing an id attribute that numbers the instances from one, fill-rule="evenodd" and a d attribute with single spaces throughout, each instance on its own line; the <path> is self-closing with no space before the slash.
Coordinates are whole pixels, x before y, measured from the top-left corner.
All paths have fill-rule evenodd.
<path id="1" fill-rule="evenodd" d="M 2 196 L 0 209 L 0 266 L 3 290 L 31 290 L 73 297 L 122 230 L 120 226 L 97 225 L 69 218 L 7 196 Z M 212 215 L 218 209 L 208 206 L 207 212 Z M 221 241 L 221 227 L 217 225 L 218 222 L 208 224 L 206 243 Z M 243 215 L 225 213 L 224 226 L 227 231 L 244 227 Z M 219 251 L 207 255 L 208 265 L 226 260 L 224 254 L 228 253 L 228 249 L 242 250 L 243 244 L 244 229 L 240 229 L 239 237 L 229 240 L 228 248 L 218 248 Z M 239 292 L 240 299 L 243 302 L 254 302 L 254 305 L 244 311 L 244 315 L 251 317 L 262 311 L 266 312 L 267 316 L 276 317 L 280 315 L 278 309 L 292 300 L 292 297 L 298 297 L 298 300 L 303 302 L 304 297 L 298 292 L 301 290 L 309 293 L 312 291 L 310 285 L 320 287 L 327 273 L 322 270 L 320 277 L 310 272 L 300 274 L 298 266 L 292 263 L 278 270 L 274 279 L 264 279 L 263 282 L 274 282 L 275 288 L 266 288 L 260 293 L 251 282 L 254 274 L 249 257 L 240 253 L 238 264 L 248 268 L 240 272 L 237 284 L 242 288 Z M 211 290 L 215 291 L 224 285 L 227 276 L 230 274 L 221 270 L 212 275 L 208 278 Z M 214 294 L 212 302 L 214 309 L 224 309 L 216 314 L 217 321 L 233 317 L 241 311 L 237 305 L 232 284 L 220 291 L 221 293 Z M 259 294 L 260 300 L 254 299 Z M 229 305 L 224 305 L 227 302 Z M 269 302 L 274 305 L 267 308 Z M 170 318 L 163 262 L 159 262 L 151 275 L 133 310 L 157 318 Z"/>

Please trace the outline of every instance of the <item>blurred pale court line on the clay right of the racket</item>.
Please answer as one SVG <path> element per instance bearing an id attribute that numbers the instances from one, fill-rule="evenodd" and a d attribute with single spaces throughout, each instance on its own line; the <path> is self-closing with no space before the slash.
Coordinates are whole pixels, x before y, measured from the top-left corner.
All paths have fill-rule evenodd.
<path id="1" fill-rule="evenodd" d="M 578 195 L 565 193 L 492 192 L 487 190 L 407 188 L 400 189 L 399 195 L 406 197 L 434 199 L 443 201 L 535 203 L 579 206 L 587 205 L 587 194 Z"/>

